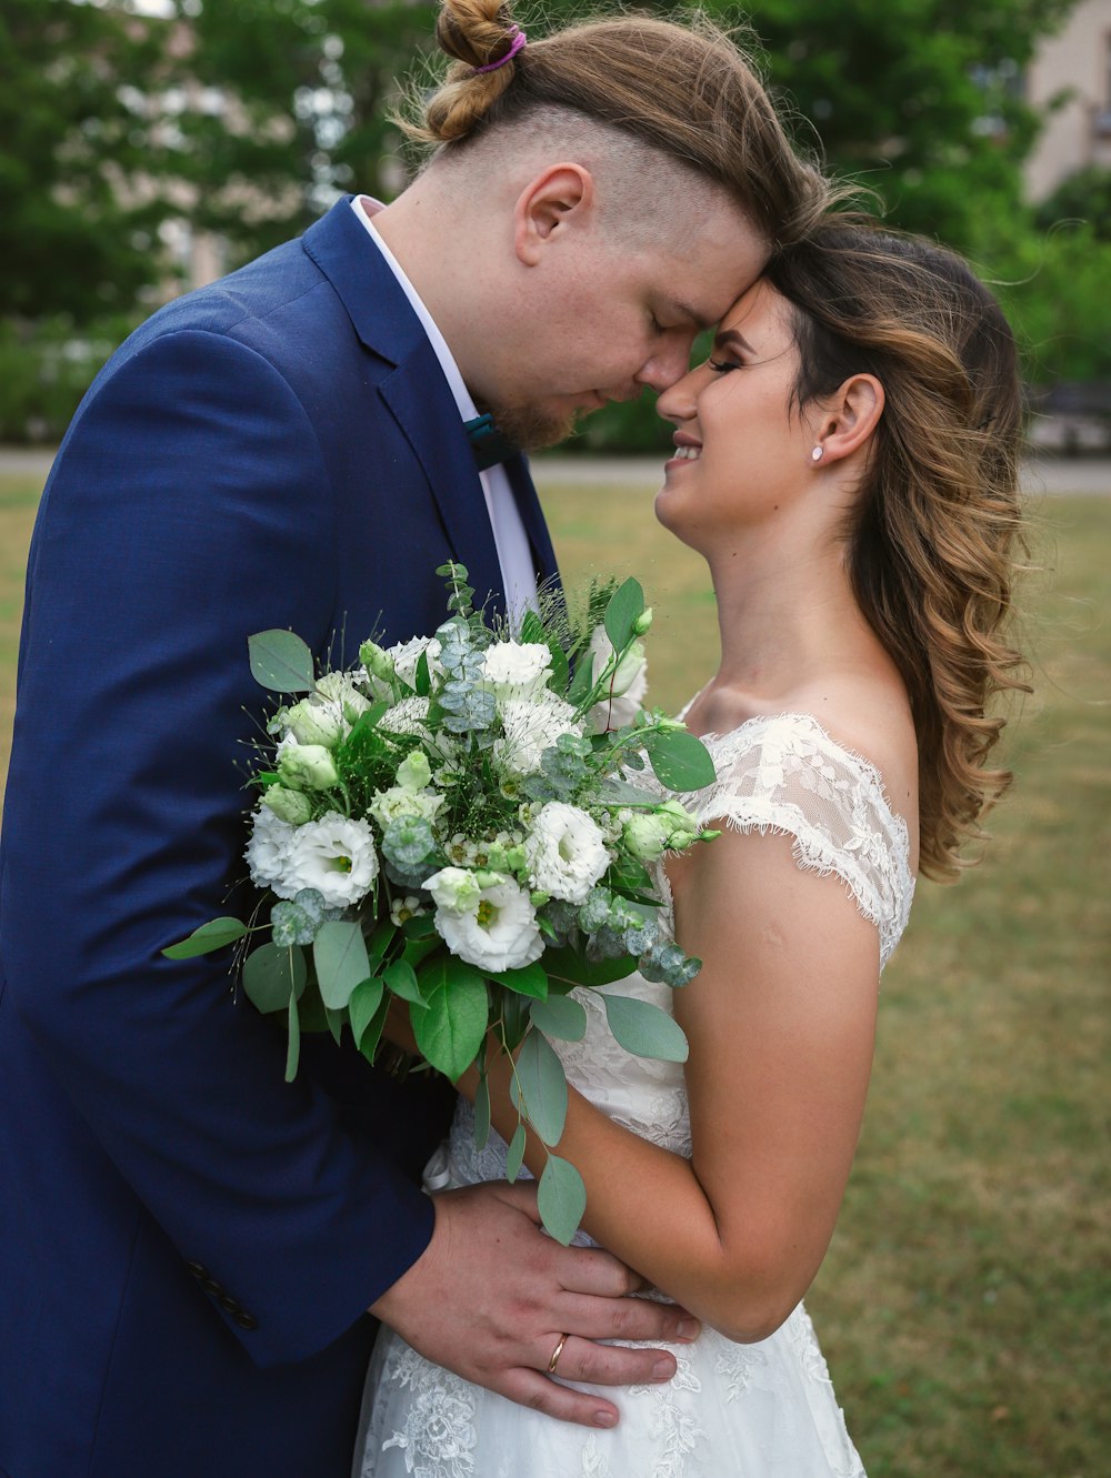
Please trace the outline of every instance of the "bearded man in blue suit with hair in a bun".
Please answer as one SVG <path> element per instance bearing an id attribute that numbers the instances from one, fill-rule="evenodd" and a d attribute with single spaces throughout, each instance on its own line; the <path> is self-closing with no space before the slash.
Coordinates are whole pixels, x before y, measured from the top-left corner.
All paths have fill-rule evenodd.
<path id="1" fill-rule="evenodd" d="M 636 1280 L 608 1255 L 544 1239 L 528 1188 L 423 1196 L 441 1091 L 330 1039 L 287 1086 L 226 967 L 160 953 L 244 872 L 247 636 L 351 661 L 370 633 L 429 633 L 448 557 L 479 599 L 525 605 L 555 573 L 536 492 L 519 455 L 481 470 L 465 423 L 491 408 L 536 443 L 670 384 L 817 189 L 781 136 L 734 177 L 645 140 L 608 87 L 593 114 L 561 106 L 580 59 L 392 205 L 342 200 L 155 313 L 62 443 L 0 863 L 4 1478 L 339 1478 L 367 1311 L 598 1425 L 611 1403 L 547 1379 L 556 1344 L 561 1376 L 620 1383 L 667 1379 L 672 1357 L 595 1341 L 691 1333 L 623 1298 Z M 722 98 L 704 106 L 709 136 Z"/>

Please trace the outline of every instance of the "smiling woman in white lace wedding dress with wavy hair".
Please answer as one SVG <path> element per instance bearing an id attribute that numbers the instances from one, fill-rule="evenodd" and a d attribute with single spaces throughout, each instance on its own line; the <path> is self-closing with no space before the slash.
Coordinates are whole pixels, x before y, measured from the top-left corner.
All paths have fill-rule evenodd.
<path id="1" fill-rule="evenodd" d="M 703 1332 L 672 1346 L 673 1380 L 617 1391 L 617 1428 L 587 1431 L 383 1330 L 361 1478 L 864 1472 L 800 1301 L 849 1175 L 916 872 L 953 875 L 1007 782 L 987 769 L 1002 720 L 985 706 L 1016 686 L 1013 340 L 959 259 L 831 220 L 743 294 L 660 412 L 678 430 L 657 516 L 706 557 L 717 599 L 720 667 L 685 717 L 717 769 L 694 806 L 723 835 L 661 875 L 704 961 L 695 981 L 607 989 L 673 1009 L 689 1061 L 627 1055 L 590 992 L 584 1039 L 553 1045 L 584 1231 Z M 490 1080 L 512 1134 L 504 1067 Z M 543 1156 L 531 1142 L 534 1174 Z M 475 1151 L 460 1100 L 435 1184 L 504 1165 L 503 1140 Z"/>

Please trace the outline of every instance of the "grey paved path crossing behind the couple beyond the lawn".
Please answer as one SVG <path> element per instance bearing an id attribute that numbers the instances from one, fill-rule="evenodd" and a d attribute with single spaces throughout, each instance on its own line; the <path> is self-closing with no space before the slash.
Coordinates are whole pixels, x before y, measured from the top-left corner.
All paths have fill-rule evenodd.
<path id="1" fill-rule="evenodd" d="M 44 477 L 53 461 L 53 448 L 0 446 L 0 473 L 25 473 Z M 544 488 L 555 483 L 593 483 L 614 488 L 652 488 L 661 480 L 661 457 L 536 457 L 533 471 Z M 1022 464 L 1025 492 L 1055 495 L 1062 492 L 1111 494 L 1111 458 L 1049 457 L 1034 454 Z"/>

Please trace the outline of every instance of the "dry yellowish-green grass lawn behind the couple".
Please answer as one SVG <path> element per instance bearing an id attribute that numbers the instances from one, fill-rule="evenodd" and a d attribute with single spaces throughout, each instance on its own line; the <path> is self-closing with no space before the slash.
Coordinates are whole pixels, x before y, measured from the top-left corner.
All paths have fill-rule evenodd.
<path id="1" fill-rule="evenodd" d="M 541 491 L 570 585 L 644 581 L 652 699 L 678 706 L 716 653 L 700 560 L 655 525 L 649 486 Z M 37 495 L 0 479 L 0 774 Z M 1111 1472 L 1111 498 L 1047 500 L 1039 517 L 1016 785 L 985 862 L 919 890 L 808 1301 L 871 1478 Z"/>

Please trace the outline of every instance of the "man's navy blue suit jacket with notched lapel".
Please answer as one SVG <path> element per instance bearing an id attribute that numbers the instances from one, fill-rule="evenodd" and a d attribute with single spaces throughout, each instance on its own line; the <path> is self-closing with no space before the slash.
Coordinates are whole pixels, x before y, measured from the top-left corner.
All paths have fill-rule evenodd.
<path id="1" fill-rule="evenodd" d="M 537 571 L 555 562 L 524 463 Z M 351 661 L 500 573 L 432 349 L 340 201 L 109 361 L 43 494 L 0 862 L 0 1472 L 346 1475 L 442 1126 L 160 950 L 246 872 L 247 636 Z"/>

